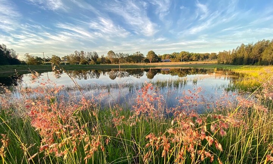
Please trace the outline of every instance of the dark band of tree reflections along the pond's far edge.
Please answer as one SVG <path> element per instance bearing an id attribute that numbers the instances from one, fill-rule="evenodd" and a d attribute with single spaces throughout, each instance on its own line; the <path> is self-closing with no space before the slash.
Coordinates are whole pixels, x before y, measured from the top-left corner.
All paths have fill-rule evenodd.
<path id="1" fill-rule="evenodd" d="M 219 72 L 220 70 L 217 70 Z M 173 68 L 173 69 L 91 69 L 91 70 L 69 70 L 67 73 L 75 79 L 99 79 L 100 75 L 108 75 L 110 79 L 114 80 L 124 77 L 136 77 L 141 78 L 146 76 L 148 79 L 153 79 L 156 74 L 169 74 L 172 76 L 185 77 L 187 75 L 193 74 L 211 74 L 216 73 L 215 69 L 190 69 L 190 68 Z M 221 72 L 221 71 L 220 71 Z M 64 73 L 62 70 L 54 70 L 54 75 L 56 78 L 61 78 L 61 75 Z M 222 74 L 222 73 L 221 73 Z M 11 77 L 0 77 L 0 83 L 11 86 L 17 85 L 22 79 L 23 75 L 20 76 L 11 76 Z M 40 74 L 38 74 L 40 76 Z M 29 75 L 31 78 L 31 76 Z"/>

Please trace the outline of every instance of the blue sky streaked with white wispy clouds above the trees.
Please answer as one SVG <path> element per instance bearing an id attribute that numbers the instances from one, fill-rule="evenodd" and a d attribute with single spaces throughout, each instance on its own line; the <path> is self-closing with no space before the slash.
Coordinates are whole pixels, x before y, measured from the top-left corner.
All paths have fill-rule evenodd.
<path id="1" fill-rule="evenodd" d="M 219 52 L 273 39 L 273 1 L 0 0 L 0 36 L 19 59 L 75 50 Z"/>

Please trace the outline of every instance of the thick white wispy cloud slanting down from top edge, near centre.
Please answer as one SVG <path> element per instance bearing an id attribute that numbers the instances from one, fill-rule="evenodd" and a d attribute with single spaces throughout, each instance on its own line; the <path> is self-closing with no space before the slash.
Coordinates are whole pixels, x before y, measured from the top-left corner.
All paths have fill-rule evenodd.
<path id="1" fill-rule="evenodd" d="M 107 4 L 105 7 L 111 13 L 121 16 L 136 34 L 153 36 L 158 31 L 157 25 L 147 17 L 146 3 L 123 0 Z"/>

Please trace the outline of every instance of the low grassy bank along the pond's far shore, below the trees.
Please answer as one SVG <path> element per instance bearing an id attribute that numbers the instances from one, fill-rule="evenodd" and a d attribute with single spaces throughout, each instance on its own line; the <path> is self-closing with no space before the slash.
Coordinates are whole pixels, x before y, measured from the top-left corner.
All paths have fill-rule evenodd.
<path id="1" fill-rule="evenodd" d="M 136 69 L 136 68 L 222 68 L 236 69 L 242 67 L 260 67 L 243 65 L 224 65 L 217 64 L 217 60 L 210 61 L 191 61 L 191 62 L 168 62 L 168 63 L 130 63 L 130 64 L 92 64 L 92 65 L 60 65 L 65 70 L 84 70 L 84 69 Z M 264 66 L 263 66 L 264 67 Z M 56 66 L 58 69 L 58 67 Z M 30 71 L 47 72 L 52 71 L 51 65 L 3 65 L 0 66 L 0 76 L 8 74 L 27 74 Z"/>

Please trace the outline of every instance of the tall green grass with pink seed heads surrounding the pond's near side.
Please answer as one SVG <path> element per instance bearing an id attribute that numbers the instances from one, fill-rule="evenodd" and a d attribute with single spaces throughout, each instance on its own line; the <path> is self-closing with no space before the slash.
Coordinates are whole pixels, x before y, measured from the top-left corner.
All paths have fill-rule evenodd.
<path id="1" fill-rule="evenodd" d="M 67 100 L 58 94 L 65 88 L 50 81 L 19 88 L 19 96 L 3 88 L 0 162 L 273 163 L 273 67 L 184 66 L 204 65 L 231 69 L 239 79 L 230 89 L 245 96 L 197 102 L 201 88 L 196 88 L 168 108 L 156 83 L 147 83 L 128 110 L 102 106 L 106 94 L 91 99 L 82 94 L 78 102 L 71 95 Z M 33 72 L 34 80 L 36 75 Z M 198 103 L 206 105 L 202 114 L 192 110 Z"/>

